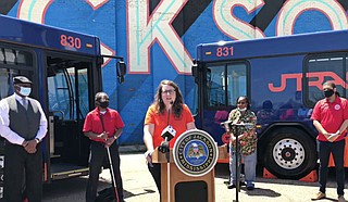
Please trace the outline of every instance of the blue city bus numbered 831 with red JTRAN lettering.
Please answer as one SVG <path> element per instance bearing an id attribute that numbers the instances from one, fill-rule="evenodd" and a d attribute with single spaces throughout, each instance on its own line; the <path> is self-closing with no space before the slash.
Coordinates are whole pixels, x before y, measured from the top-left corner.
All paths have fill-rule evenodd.
<path id="1" fill-rule="evenodd" d="M 279 178 L 302 178 L 318 166 L 312 109 L 326 80 L 347 96 L 347 61 L 348 30 L 199 45 L 196 125 L 219 146 L 228 142 L 220 124 L 248 96 L 258 116 L 258 165 Z"/>

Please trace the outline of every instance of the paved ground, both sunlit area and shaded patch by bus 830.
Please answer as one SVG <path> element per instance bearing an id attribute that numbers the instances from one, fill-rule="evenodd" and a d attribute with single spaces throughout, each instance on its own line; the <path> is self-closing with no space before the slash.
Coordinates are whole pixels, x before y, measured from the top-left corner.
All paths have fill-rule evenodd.
<path id="1" fill-rule="evenodd" d="M 123 153 L 121 155 L 121 171 L 125 189 L 126 202 L 158 202 L 159 193 L 151 175 L 147 171 L 142 153 Z M 227 165 L 219 164 L 215 167 L 215 201 L 231 202 L 236 199 L 235 189 L 226 188 Z M 238 194 L 239 201 L 277 201 L 300 202 L 311 201 L 311 197 L 318 192 L 316 182 L 303 182 L 299 180 L 265 179 L 258 175 L 256 189 L 247 191 L 243 187 Z M 109 169 L 100 176 L 99 189 L 110 184 Z M 332 177 L 331 177 L 332 178 Z M 330 199 L 320 202 L 336 201 L 335 184 L 328 184 L 327 197 Z M 58 181 L 45 187 L 44 202 L 84 201 L 86 177 Z M 195 193 L 192 193 L 195 194 Z M 346 195 L 347 198 L 347 195 Z"/>

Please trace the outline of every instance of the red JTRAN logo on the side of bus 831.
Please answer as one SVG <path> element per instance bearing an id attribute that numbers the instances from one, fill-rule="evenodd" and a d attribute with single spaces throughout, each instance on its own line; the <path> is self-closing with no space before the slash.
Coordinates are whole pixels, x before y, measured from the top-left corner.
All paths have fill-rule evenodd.
<path id="1" fill-rule="evenodd" d="M 287 87 L 287 81 L 289 79 L 296 80 L 296 90 L 302 90 L 302 73 L 295 73 L 295 74 L 282 74 L 281 75 L 281 86 L 275 86 L 274 83 L 269 84 L 269 89 L 272 92 L 282 92 Z M 344 80 L 340 76 L 338 76 L 334 72 L 313 72 L 313 73 L 306 73 L 307 78 L 314 78 L 309 79 L 308 86 L 309 87 L 316 87 L 318 89 L 322 89 L 322 85 L 325 81 L 325 77 L 331 77 L 332 81 L 334 81 L 337 86 L 343 86 L 344 88 L 348 89 L 346 85 L 346 80 Z M 346 73 L 346 78 L 348 78 L 348 72 Z"/>

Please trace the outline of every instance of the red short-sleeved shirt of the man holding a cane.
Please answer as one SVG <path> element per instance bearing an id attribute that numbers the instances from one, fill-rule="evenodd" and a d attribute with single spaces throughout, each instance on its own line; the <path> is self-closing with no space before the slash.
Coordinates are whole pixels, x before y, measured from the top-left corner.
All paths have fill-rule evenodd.
<path id="1" fill-rule="evenodd" d="M 104 122 L 105 131 L 109 132 L 109 137 L 112 137 L 119 128 L 124 127 L 124 123 L 119 112 L 115 110 L 108 108 L 107 113 L 102 115 L 102 119 Z M 103 131 L 100 119 L 100 111 L 98 108 L 87 114 L 83 131 L 91 131 L 94 134 L 101 134 Z M 101 139 L 91 138 L 91 140 L 104 142 L 104 140 Z"/>

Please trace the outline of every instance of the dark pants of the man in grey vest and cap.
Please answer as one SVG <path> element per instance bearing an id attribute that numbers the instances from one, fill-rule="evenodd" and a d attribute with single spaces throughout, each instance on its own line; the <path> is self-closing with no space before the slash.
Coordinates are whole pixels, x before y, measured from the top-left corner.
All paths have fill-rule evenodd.
<path id="1" fill-rule="evenodd" d="M 22 146 L 7 141 L 4 147 L 4 199 L 7 202 L 23 201 L 26 189 L 29 202 L 42 199 L 42 150 L 40 143 L 33 154 Z"/>

